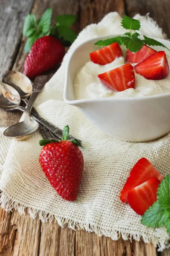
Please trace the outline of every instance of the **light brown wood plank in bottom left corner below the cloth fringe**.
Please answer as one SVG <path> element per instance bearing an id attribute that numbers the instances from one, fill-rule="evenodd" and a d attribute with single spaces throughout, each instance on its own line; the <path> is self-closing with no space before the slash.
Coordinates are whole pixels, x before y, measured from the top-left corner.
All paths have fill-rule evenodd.
<path id="1" fill-rule="evenodd" d="M 0 208 L 0 255 L 37 256 L 40 247 L 41 221 Z"/>

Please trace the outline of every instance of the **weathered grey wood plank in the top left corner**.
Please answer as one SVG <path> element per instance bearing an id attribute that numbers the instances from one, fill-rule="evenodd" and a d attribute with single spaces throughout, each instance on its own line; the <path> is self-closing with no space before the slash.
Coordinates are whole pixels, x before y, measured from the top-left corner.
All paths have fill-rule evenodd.
<path id="1" fill-rule="evenodd" d="M 33 0 L 0 1 L 0 79 L 14 64 L 20 48 L 23 21 Z"/>

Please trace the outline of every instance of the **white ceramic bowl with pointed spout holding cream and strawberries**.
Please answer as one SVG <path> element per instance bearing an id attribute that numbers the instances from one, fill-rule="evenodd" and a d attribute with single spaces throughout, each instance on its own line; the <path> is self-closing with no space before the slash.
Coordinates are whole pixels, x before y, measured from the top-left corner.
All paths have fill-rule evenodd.
<path id="1" fill-rule="evenodd" d="M 94 38 L 81 44 L 71 55 L 66 70 L 64 101 L 79 108 L 82 114 L 99 130 L 118 140 L 143 142 L 155 140 L 170 132 L 170 93 L 141 98 L 79 99 L 74 97 L 74 76 L 90 60 L 89 53 L 99 49 Z M 170 41 L 156 39 L 170 49 Z M 156 50 L 170 52 L 163 47 Z"/>

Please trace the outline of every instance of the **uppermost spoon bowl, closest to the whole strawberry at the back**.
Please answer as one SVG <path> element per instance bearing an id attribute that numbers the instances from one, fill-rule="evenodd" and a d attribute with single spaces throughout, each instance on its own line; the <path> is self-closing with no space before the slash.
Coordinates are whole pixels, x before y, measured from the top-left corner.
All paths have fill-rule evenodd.
<path id="1" fill-rule="evenodd" d="M 5 76 L 3 76 L 3 81 L 15 88 L 20 94 L 21 98 L 31 95 L 33 89 L 32 83 L 24 74 L 18 71 L 10 70 L 5 74 Z"/>

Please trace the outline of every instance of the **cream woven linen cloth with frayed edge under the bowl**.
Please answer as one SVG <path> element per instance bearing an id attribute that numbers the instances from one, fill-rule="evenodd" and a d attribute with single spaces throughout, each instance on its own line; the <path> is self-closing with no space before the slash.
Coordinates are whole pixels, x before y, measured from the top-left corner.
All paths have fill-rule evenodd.
<path id="1" fill-rule="evenodd" d="M 136 15 L 135 18 L 141 22 L 141 35 L 165 38 L 150 17 Z M 85 166 L 77 199 L 74 202 L 63 200 L 42 172 L 39 164 L 39 140 L 42 137 L 39 132 L 24 141 L 9 142 L 3 138 L 1 129 L 0 204 L 6 211 L 15 208 L 21 214 L 28 207 L 32 218 L 39 215 L 44 222 L 56 219 L 61 227 L 77 227 L 113 240 L 121 235 L 125 240 L 143 239 L 163 250 L 169 239 L 165 228 L 142 225 L 141 217 L 128 204 L 122 203 L 119 195 L 130 169 L 141 157 L 150 160 L 163 175 L 170 173 L 170 134 L 148 143 L 118 141 L 91 125 L 76 107 L 63 102 L 65 69 L 71 53 L 88 39 L 125 32 L 120 21 L 121 17 L 112 12 L 98 24 L 82 30 L 35 103 L 43 118 L 59 128 L 68 124 L 71 134 L 83 142 Z"/>

